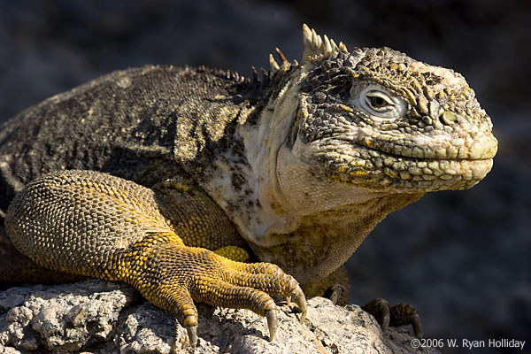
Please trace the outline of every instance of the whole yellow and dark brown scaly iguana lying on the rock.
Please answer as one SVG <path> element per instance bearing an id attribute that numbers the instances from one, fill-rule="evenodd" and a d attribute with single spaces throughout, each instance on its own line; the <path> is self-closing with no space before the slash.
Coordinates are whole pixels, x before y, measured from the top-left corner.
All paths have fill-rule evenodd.
<path id="1" fill-rule="evenodd" d="M 344 298 L 342 264 L 389 212 L 489 173 L 492 124 L 460 74 L 303 34 L 300 64 L 277 50 L 251 79 L 148 65 L 7 121 L 0 279 L 126 281 L 192 345 L 194 302 L 265 315 L 273 339 L 271 296 L 301 320 L 304 292 Z M 421 335 L 409 305 L 364 308 Z"/>

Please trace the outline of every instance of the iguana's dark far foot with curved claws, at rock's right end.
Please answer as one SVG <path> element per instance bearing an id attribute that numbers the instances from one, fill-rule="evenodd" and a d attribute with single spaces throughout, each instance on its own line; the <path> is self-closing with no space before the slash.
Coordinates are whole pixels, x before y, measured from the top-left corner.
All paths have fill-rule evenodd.
<path id="1" fill-rule="evenodd" d="M 380 323 L 381 330 L 384 332 L 389 326 L 400 327 L 412 325 L 415 336 L 422 338 L 423 329 L 419 312 L 410 304 L 389 306 L 387 300 L 376 298 L 361 308 L 373 315 L 378 323 Z"/>

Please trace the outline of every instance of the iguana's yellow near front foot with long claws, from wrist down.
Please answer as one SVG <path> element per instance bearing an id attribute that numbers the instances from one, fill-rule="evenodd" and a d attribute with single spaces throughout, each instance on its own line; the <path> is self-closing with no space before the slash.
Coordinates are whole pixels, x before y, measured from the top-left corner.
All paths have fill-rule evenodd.
<path id="1" fill-rule="evenodd" d="M 276 304 L 271 296 L 290 299 L 306 315 L 303 290 L 296 280 L 269 263 L 242 263 L 211 250 L 174 242 L 175 235 L 155 234 L 117 255 L 119 261 L 104 278 L 126 281 L 152 304 L 171 312 L 196 345 L 197 310 L 194 302 L 249 309 L 266 316 L 269 340 L 277 330 Z"/>

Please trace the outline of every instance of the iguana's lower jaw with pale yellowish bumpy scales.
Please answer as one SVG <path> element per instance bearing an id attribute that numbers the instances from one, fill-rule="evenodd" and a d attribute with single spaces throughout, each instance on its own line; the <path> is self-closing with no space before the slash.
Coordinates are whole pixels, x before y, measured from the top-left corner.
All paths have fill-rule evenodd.
<path id="1" fill-rule="evenodd" d="M 493 165 L 493 158 L 413 158 L 351 141 L 334 139 L 328 143 L 328 149 L 320 145 L 320 151 L 314 155 L 318 164 L 325 166 L 321 173 L 332 181 L 372 189 L 391 185 L 430 191 L 469 189 L 481 181 Z M 315 169 L 319 170 L 317 165 Z"/>

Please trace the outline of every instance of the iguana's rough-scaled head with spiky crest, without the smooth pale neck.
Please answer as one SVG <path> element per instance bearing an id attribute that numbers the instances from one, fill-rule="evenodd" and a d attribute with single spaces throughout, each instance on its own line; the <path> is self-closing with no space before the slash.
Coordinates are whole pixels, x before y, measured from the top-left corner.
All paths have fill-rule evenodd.
<path id="1" fill-rule="evenodd" d="M 304 27 L 289 135 L 317 177 L 366 189 L 467 189 L 492 166 L 492 124 L 463 76 L 389 48 L 348 52 Z"/>

